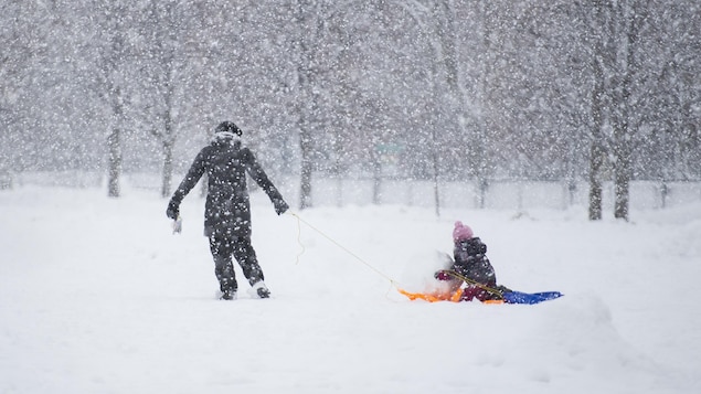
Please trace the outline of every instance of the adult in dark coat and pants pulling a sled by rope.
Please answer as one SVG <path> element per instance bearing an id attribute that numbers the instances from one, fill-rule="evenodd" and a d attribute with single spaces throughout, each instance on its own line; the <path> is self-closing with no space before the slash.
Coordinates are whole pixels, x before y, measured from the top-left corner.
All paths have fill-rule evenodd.
<path id="1" fill-rule="evenodd" d="M 224 121 L 216 127 L 212 142 L 198 153 L 188 174 L 170 199 L 166 213 L 168 217 L 177 220 L 180 203 L 206 173 L 204 235 L 210 239 L 221 298 L 236 298 L 238 286 L 232 256 L 241 265 L 257 296 L 268 298 L 270 292 L 263 281 L 263 270 L 251 245 L 251 204 L 246 173 L 270 198 L 278 215 L 285 213 L 289 205 L 263 171 L 253 152 L 242 145 L 241 135 L 241 129 L 232 121 Z"/>

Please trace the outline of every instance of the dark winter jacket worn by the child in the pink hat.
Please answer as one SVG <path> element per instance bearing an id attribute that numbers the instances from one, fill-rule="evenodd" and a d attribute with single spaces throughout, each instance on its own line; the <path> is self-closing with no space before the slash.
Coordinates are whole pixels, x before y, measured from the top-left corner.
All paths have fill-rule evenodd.
<path id="1" fill-rule="evenodd" d="M 486 253 L 487 245 L 479 237 L 458 241 L 453 249 L 455 263 L 450 269 L 482 285 L 496 287 L 497 275 Z"/>

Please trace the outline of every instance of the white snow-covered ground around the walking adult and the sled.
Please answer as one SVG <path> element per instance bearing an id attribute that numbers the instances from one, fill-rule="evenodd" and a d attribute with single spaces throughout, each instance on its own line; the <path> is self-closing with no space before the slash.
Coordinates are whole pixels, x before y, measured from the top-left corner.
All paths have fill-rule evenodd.
<path id="1" fill-rule="evenodd" d="M 318 207 L 254 194 L 273 291 L 215 299 L 203 201 L 0 191 L 0 393 L 700 393 L 701 203 L 586 221 L 533 210 Z M 607 212 L 608 213 L 608 212 Z M 427 304 L 453 222 L 537 306 Z M 361 262 L 362 260 L 362 262 Z"/>

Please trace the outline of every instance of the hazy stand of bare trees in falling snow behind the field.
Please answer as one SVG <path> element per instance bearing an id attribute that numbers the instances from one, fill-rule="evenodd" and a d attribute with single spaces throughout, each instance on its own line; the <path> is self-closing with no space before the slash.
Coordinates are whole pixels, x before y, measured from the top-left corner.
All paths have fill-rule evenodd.
<path id="1" fill-rule="evenodd" d="M 401 152 L 392 177 L 433 180 L 434 191 L 471 178 L 478 206 L 493 177 L 587 179 L 593 220 L 604 182 L 625 219 L 631 180 L 701 177 L 693 0 L 0 9 L 0 160 L 98 168 L 110 195 L 132 169 L 162 171 L 167 193 L 189 158 L 180 151 L 223 116 L 241 120 L 273 168 L 300 175 L 305 207 L 325 174 L 374 177 L 381 202 L 387 174 L 373 155 L 390 146 Z"/>

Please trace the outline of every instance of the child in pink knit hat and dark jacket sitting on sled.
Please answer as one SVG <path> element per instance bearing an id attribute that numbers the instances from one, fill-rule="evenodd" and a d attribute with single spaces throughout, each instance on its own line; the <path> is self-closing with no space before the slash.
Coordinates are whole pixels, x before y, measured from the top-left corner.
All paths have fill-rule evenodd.
<path id="1" fill-rule="evenodd" d="M 449 268 L 434 274 L 436 279 L 447 281 L 450 300 L 501 300 L 504 292 L 511 291 L 497 286 L 495 268 L 487 258 L 487 245 L 474 235 L 469 226 L 455 222 L 453 243 L 453 258 L 446 256 L 450 263 Z M 463 283 L 466 284 L 465 287 Z"/>

